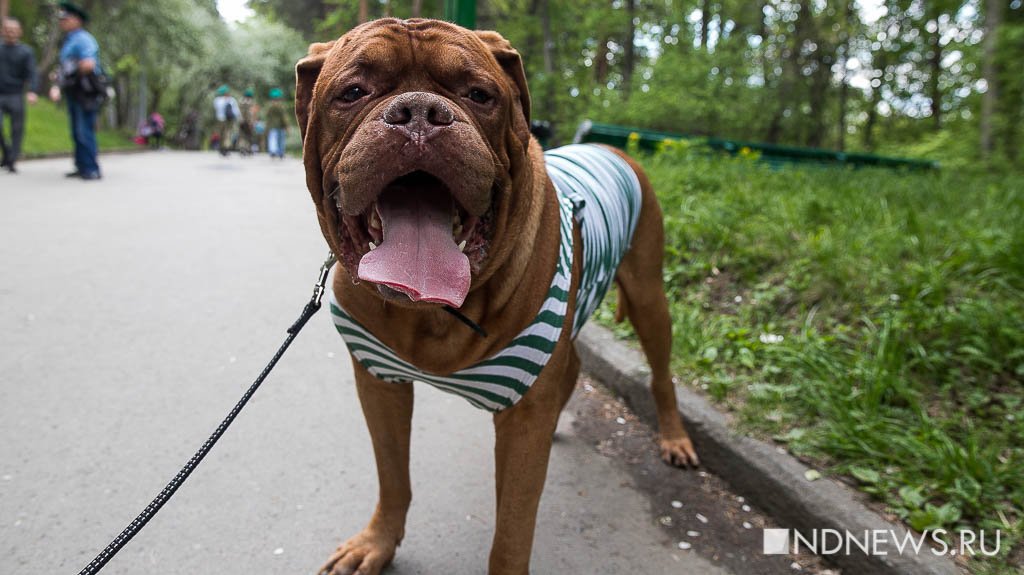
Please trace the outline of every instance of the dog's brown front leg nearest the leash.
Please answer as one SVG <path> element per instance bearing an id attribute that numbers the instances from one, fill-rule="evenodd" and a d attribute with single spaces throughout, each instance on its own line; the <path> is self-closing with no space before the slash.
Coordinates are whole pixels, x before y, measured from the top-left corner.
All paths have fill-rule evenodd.
<path id="1" fill-rule="evenodd" d="M 352 361 L 362 414 L 377 459 L 380 495 L 370 524 L 342 543 L 321 568 L 321 575 L 377 575 L 394 559 L 406 534 L 406 514 L 413 498 L 409 480 L 409 443 L 413 423 L 413 384 L 391 384 Z"/>

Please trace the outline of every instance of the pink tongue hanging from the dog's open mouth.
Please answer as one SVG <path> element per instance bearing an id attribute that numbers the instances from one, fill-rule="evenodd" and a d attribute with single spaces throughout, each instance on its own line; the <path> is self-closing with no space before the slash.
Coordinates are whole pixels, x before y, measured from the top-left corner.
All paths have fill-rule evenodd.
<path id="1" fill-rule="evenodd" d="M 377 203 L 384 240 L 359 261 L 359 279 L 414 302 L 462 306 L 469 258 L 452 237 L 452 198 L 439 186 L 385 191 Z"/>

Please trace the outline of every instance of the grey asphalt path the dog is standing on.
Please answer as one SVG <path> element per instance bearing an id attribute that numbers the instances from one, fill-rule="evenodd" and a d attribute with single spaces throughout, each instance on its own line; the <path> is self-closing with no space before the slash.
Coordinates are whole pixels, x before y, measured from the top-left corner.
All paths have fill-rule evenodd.
<path id="1" fill-rule="evenodd" d="M 150 152 L 0 174 L 0 573 L 78 573 L 174 476 L 285 338 L 326 246 L 301 164 Z M 534 573 L 715 574 L 563 418 Z M 485 571 L 494 433 L 417 388 L 414 501 L 388 573 Z M 376 502 L 341 339 L 321 312 L 106 574 L 313 573 Z M 717 556 L 716 556 L 717 557 Z"/>

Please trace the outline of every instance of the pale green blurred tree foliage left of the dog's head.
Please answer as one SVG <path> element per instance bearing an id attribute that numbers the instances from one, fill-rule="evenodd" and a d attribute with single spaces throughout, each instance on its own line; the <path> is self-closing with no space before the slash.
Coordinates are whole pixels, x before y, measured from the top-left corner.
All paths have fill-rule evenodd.
<path id="1" fill-rule="evenodd" d="M 215 0 L 91 0 L 88 26 L 100 46 L 100 61 L 113 77 L 114 124 L 134 130 L 150 112 L 175 123 L 190 112 L 210 120 L 213 90 L 228 84 L 265 94 L 290 89 L 295 62 L 305 53 L 300 32 L 264 17 L 228 26 Z M 60 34 L 56 1 L 13 0 L 26 42 L 36 48 L 41 73 L 56 61 Z"/>

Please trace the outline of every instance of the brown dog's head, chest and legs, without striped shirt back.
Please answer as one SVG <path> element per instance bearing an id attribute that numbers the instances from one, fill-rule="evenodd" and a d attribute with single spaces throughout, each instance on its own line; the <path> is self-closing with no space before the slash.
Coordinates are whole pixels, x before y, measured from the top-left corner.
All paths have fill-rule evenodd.
<path id="1" fill-rule="evenodd" d="M 380 482 L 369 525 L 322 573 L 379 573 L 404 535 L 414 377 L 385 367 L 400 363 L 457 390 L 452 382 L 463 380 L 443 377 L 477 372 L 475 366 L 543 323 L 539 310 L 562 293 L 554 337 L 531 383 L 488 388 L 494 380 L 480 375 L 484 383 L 472 392 L 479 395 L 467 396 L 495 411 L 498 517 L 489 573 L 527 573 L 552 434 L 580 370 L 571 318 L 585 258 L 581 226 L 570 218 L 562 227 L 566 204 L 529 134 L 519 54 L 494 32 L 376 20 L 310 46 L 297 65 L 295 106 L 306 183 L 341 264 L 333 311 L 353 354 Z M 642 208 L 614 274 L 620 311 L 651 365 L 662 456 L 696 465 L 669 371 L 660 209 L 639 167 L 625 161 L 642 188 Z M 566 253 L 560 247 L 570 238 Z M 567 291 L 555 289 L 562 276 L 566 286 L 571 282 Z M 458 308 L 462 319 L 445 306 Z M 370 326 L 364 328 L 370 335 L 358 339 L 354 326 Z M 373 355 L 385 347 L 393 359 Z M 512 399 L 486 403 L 507 399 L 494 389 Z"/>

